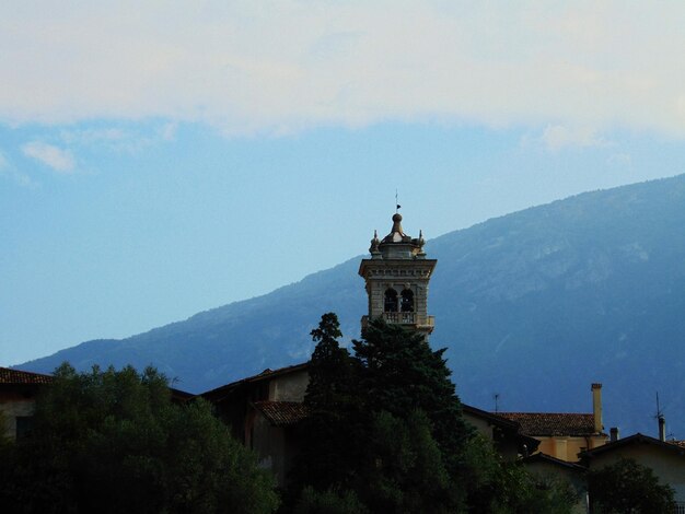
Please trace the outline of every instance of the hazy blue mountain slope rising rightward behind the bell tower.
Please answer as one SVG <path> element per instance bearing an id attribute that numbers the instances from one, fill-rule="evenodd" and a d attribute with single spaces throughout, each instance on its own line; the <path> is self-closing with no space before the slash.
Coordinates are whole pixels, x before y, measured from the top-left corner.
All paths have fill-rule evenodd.
<path id="1" fill-rule="evenodd" d="M 438 259 L 431 344 L 448 348 L 465 402 L 491 410 L 498 395 L 501 410 L 588 412 L 590 384 L 601 382 L 607 430 L 655 434 L 659 392 L 667 431 L 685 439 L 685 175 L 488 220 L 426 250 Z M 338 313 L 348 340 L 358 337 L 367 309 L 360 259 L 19 367 L 152 363 L 176 387 L 200 392 L 301 362 L 325 312 Z"/>

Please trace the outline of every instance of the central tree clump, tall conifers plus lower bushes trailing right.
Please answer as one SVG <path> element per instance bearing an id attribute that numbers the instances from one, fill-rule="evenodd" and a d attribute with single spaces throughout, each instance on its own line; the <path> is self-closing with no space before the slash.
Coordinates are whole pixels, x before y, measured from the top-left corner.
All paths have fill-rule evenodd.
<path id="1" fill-rule="evenodd" d="M 312 336 L 294 512 L 570 512 L 566 484 L 542 483 L 474 434 L 443 351 L 421 336 L 373 320 L 350 357 L 334 314 Z"/>

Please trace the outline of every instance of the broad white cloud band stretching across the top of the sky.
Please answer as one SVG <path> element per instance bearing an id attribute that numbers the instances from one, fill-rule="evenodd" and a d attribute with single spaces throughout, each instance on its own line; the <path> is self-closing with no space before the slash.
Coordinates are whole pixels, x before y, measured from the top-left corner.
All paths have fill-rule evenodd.
<path id="1" fill-rule="evenodd" d="M 684 23 L 677 1 L 4 2 L 0 120 L 288 133 L 440 118 L 685 137 Z"/>

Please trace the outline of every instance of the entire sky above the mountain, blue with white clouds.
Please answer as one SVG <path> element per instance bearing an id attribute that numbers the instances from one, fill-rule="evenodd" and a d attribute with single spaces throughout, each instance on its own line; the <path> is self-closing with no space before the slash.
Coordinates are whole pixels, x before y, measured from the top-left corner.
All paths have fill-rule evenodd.
<path id="1" fill-rule="evenodd" d="M 431 238 L 685 173 L 684 23 L 682 2 L 3 2 L 0 365 L 362 254 L 395 189 Z"/>

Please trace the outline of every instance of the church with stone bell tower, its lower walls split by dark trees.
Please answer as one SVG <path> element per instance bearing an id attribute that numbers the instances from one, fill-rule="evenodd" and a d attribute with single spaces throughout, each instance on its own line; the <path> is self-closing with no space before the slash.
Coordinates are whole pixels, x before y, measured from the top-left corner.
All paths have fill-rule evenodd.
<path id="1" fill-rule="evenodd" d="M 428 315 L 428 287 L 436 259 L 427 259 L 423 238 L 404 233 L 402 215 L 393 215 L 390 234 L 382 241 L 374 233 L 371 257 L 362 259 L 359 274 L 369 296 L 369 319 L 382 317 L 428 338 L 434 327 Z M 303 405 L 309 384 L 309 363 L 264 372 L 204 393 L 233 435 L 253 448 L 263 466 L 283 486 L 302 441 L 299 423 L 307 416 Z M 475 407 L 463 406 L 468 421 L 509 459 L 534 452 L 538 442 L 521 433 L 516 421 Z"/>

